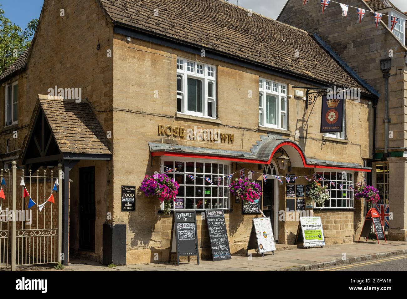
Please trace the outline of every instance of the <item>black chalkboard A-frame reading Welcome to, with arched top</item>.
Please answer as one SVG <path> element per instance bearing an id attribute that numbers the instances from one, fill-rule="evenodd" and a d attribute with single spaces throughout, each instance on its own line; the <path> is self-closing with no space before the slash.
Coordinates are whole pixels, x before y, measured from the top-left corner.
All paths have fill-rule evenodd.
<path id="1" fill-rule="evenodd" d="M 175 243 L 173 243 L 175 235 Z M 171 234 L 171 254 L 177 253 L 177 264 L 180 256 L 196 255 L 199 264 L 197 218 L 195 210 L 174 211 L 173 234 Z"/>

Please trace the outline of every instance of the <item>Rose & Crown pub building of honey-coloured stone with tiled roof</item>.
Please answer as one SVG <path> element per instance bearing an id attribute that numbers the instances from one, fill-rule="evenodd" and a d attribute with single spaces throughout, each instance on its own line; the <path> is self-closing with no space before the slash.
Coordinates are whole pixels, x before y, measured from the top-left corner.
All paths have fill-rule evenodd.
<path id="1" fill-rule="evenodd" d="M 172 216 L 158 199 L 138 192 L 134 212 L 121 206 L 122 186 L 138 189 L 166 170 L 180 184 L 174 208 L 225 210 L 232 253 L 245 251 L 258 214 L 242 214 L 231 181 L 217 181 L 243 168 L 262 183 L 278 243 L 294 243 L 291 218 L 305 208 L 271 175 L 306 185 L 304 176 L 319 174 L 330 190 L 314 211 L 326 244 L 359 237 L 363 203 L 350 186 L 371 171 L 378 94 L 306 31 L 221 0 L 45 0 L 31 48 L 0 84 L 2 167 L 63 164 L 65 253 L 69 240 L 71 255 L 101 260 L 102 225 L 111 223 L 126 227 L 127 264 L 154 262 L 155 253 L 167 260 Z M 360 89 L 361 100 L 345 101 L 341 132 L 320 133 L 322 99 L 307 104 L 298 87 L 333 85 Z M 50 97 L 55 88 L 70 90 Z M 219 135 L 188 138 L 191 129 Z M 199 251 L 210 258 L 197 218 Z"/>

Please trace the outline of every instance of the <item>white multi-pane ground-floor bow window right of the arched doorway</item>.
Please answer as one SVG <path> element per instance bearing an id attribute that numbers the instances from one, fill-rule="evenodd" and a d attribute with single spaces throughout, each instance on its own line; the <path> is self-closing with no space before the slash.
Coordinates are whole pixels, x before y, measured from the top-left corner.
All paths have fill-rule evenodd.
<path id="1" fill-rule="evenodd" d="M 324 208 L 353 207 L 353 190 L 350 190 L 353 184 L 352 172 L 324 171 L 317 172 L 317 174 L 318 178 L 322 177 L 322 181 L 319 181 L 321 185 L 327 186 L 327 190 L 329 191 L 329 199 L 325 201 Z M 335 186 L 331 182 L 333 182 Z"/>

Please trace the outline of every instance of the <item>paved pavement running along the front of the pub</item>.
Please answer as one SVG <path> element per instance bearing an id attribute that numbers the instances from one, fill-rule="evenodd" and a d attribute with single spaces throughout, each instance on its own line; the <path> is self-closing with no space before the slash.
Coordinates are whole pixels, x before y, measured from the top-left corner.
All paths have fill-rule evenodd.
<path id="1" fill-rule="evenodd" d="M 295 249 L 291 249 L 295 248 Z M 407 242 L 388 241 L 377 244 L 377 241 L 354 242 L 340 245 L 330 245 L 324 248 L 296 248 L 285 247 L 288 250 L 276 251 L 274 255 L 253 254 L 252 258 L 242 255 L 233 255 L 231 260 L 213 262 L 212 260 L 201 260 L 182 262 L 179 266 L 172 263 L 150 263 L 129 266 L 107 266 L 88 260 L 70 260 L 69 266 L 63 271 L 304 271 L 317 270 L 330 266 L 340 266 L 355 262 L 364 262 L 380 258 L 398 257 L 407 254 Z M 252 251 L 254 252 L 254 251 Z M 396 261 L 396 262 L 394 262 Z M 397 260 L 394 260 L 394 264 Z M 406 262 L 400 260 L 400 262 Z M 392 265 L 390 261 L 387 267 Z M 367 264 L 366 264 L 367 266 Z M 395 266 L 396 267 L 396 266 Z M 372 267 L 373 269 L 377 269 Z M 53 268 L 38 270 L 55 271 Z"/>

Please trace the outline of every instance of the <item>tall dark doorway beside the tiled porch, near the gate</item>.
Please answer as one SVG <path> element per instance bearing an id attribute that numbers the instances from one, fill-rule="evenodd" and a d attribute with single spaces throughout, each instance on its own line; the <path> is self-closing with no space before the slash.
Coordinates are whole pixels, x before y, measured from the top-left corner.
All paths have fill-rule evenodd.
<path id="1" fill-rule="evenodd" d="M 79 168 L 79 249 L 95 251 L 95 168 Z"/>

